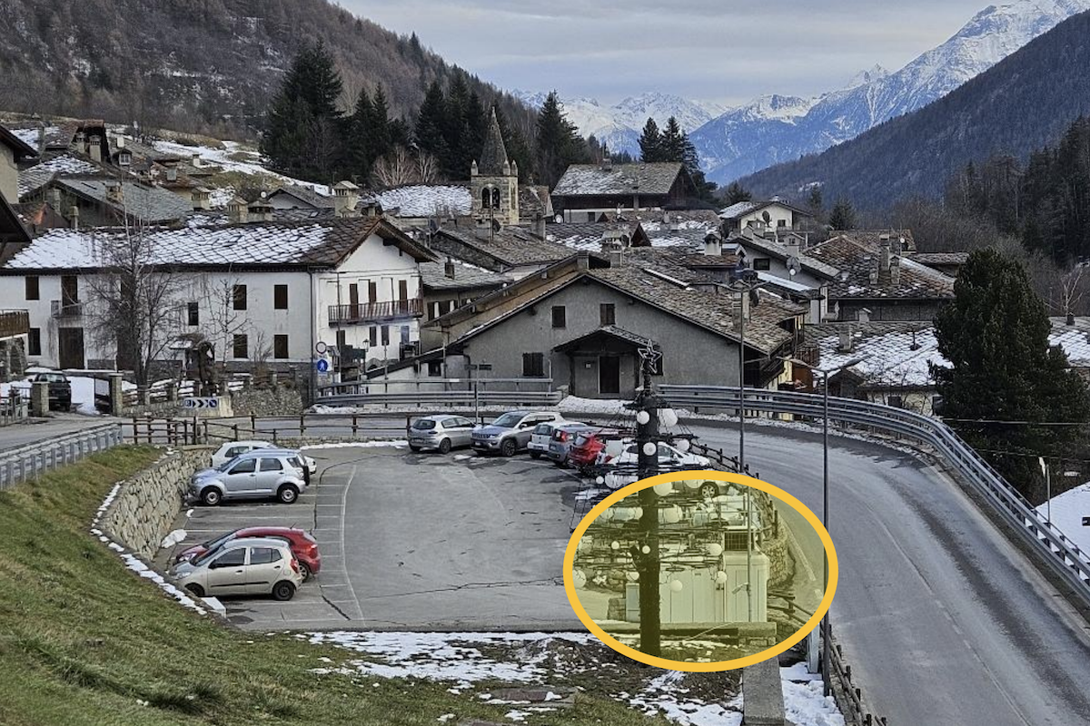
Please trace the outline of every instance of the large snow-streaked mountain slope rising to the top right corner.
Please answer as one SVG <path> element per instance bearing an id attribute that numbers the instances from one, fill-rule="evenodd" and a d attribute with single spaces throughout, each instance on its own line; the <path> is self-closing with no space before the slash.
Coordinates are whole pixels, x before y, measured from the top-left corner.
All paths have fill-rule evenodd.
<path id="1" fill-rule="evenodd" d="M 896 73 L 875 66 L 840 90 L 813 99 L 765 96 L 691 134 L 702 167 L 722 183 L 823 151 L 927 106 L 986 71 L 1090 0 L 1017 0 L 977 13 L 943 45 Z"/>

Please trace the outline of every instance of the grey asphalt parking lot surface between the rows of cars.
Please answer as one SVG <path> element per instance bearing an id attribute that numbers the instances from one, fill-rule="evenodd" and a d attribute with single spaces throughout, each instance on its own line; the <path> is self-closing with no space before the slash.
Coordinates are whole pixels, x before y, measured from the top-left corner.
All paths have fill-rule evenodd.
<path id="1" fill-rule="evenodd" d="M 294 504 L 183 510 L 185 541 L 247 526 L 299 527 L 322 571 L 289 602 L 226 600 L 255 630 L 578 628 L 561 559 L 580 482 L 525 454 L 413 454 L 400 447 L 312 448 L 318 473 Z M 186 517 L 186 513 L 191 513 Z M 167 552 L 162 553 L 168 554 Z"/>

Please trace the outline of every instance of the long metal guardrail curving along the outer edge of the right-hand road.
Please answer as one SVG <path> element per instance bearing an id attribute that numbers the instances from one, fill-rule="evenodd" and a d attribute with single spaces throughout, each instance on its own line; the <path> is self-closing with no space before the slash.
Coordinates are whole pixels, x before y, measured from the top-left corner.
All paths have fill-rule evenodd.
<path id="1" fill-rule="evenodd" d="M 738 389 L 663 385 L 659 394 L 671 405 L 692 410 L 739 408 Z M 811 393 L 747 389 L 743 398 L 741 406 L 747 411 L 792 414 L 816 420 L 824 416 L 822 396 Z M 1090 604 L 1090 553 L 1082 552 L 1044 514 L 1034 509 L 1017 489 L 948 426 L 937 419 L 900 408 L 838 397 L 829 397 L 828 417 L 829 421 L 883 431 L 932 446 Z"/>

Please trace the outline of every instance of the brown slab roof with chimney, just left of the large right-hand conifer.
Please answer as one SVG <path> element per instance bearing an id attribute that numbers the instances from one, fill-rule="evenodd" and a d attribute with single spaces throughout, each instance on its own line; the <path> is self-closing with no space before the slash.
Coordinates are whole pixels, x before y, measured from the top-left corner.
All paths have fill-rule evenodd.
<path id="1" fill-rule="evenodd" d="M 867 245 L 848 237 L 833 237 L 807 249 L 806 255 L 838 268 L 846 280 L 837 276 L 829 283 L 833 299 L 949 299 L 954 297 L 954 279 L 913 261 L 899 259 L 900 280 L 894 284 L 888 270 L 881 271 L 877 245 Z M 874 276 L 872 276 L 872 274 Z M 872 282 L 873 280 L 873 282 Z"/>

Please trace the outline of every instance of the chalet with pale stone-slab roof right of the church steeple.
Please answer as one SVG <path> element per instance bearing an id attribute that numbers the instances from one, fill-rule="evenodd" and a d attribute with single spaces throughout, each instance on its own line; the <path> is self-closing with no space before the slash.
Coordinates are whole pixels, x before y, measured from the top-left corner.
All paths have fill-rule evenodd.
<path id="1" fill-rule="evenodd" d="M 680 162 L 571 164 L 553 188 L 553 208 L 566 222 L 640 210 L 685 209 L 697 195 Z"/>

